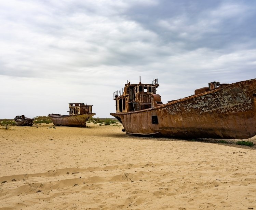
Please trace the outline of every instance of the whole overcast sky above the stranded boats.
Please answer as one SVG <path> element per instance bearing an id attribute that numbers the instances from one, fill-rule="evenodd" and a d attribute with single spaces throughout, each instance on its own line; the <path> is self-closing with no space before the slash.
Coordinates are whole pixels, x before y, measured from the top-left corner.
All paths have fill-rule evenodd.
<path id="1" fill-rule="evenodd" d="M 113 92 L 158 79 L 162 102 L 209 82 L 256 78 L 256 1 L 8 0 L 0 3 L 0 119 L 112 117 Z"/>

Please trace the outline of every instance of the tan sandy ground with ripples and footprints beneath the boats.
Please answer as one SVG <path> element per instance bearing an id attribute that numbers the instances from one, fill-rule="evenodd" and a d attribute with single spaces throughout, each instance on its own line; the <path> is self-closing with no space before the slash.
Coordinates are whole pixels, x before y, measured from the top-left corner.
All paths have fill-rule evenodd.
<path id="1" fill-rule="evenodd" d="M 256 209 L 255 146 L 89 125 L 1 128 L 0 209 Z"/>

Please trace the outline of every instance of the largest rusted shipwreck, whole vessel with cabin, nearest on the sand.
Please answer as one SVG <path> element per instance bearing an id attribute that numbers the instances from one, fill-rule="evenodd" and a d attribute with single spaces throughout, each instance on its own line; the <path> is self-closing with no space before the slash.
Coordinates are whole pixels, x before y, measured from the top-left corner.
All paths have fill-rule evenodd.
<path id="1" fill-rule="evenodd" d="M 247 139 L 256 135 L 256 79 L 208 83 L 195 94 L 163 104 L 152 84 L 130 84 L 114 92 L 111 113 L 127 134 L 182 138 Z M 121 92 L 121 91 L 120 91 Z"/>

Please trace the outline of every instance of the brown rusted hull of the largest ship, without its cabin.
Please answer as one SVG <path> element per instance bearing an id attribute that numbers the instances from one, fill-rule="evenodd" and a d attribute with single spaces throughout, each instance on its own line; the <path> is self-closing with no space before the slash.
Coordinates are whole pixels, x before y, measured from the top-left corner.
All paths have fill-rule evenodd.
<path id="1" fill-rule="evenodd" d="M 158 107 L 111 113 L 129 134 L 247 139 L 256 135 L 256 79 L 227 84 Z M 158 123 L 153 124 L 157 116 Z"/>

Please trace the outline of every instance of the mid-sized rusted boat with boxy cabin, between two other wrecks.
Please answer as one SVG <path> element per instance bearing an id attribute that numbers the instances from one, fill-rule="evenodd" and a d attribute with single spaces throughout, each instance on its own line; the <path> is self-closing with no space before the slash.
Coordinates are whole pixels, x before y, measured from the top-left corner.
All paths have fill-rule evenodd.
<path id="1" fill-rule="evenodd" d="M 95 115 L 92 106 L 84 103 L 69 103 L 69 115 L 49 114 L 54 125 L 86 127 L 86 121 Z"/>

